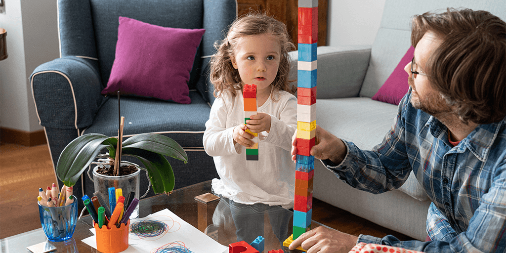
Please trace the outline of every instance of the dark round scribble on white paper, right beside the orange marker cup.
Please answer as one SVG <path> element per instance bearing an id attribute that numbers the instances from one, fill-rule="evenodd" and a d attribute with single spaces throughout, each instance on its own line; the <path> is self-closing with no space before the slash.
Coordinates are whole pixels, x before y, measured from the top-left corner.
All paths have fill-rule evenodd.
<path id="1" fill-rule="evenodd" d="M 156 219 L 158 218 L 158 219 Z M 169 216 L 155 216 L 146 220 L 139 220 L 130 224 L 130 234 L 143 240 L 158 240 L 167 233 L 173 233 L 181 228 L 181 224 Z M 172 252 L 172 251 L 160 251 Z M 174 251 L 179 252 L 179 251 Z M 185 251 L 181 251 L 185 252 Z"/>

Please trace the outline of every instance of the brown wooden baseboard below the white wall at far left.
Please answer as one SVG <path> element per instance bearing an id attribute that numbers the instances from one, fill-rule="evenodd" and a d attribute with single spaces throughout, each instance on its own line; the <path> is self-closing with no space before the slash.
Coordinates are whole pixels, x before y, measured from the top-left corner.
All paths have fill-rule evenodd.
<path id="1" fill-rule="evenodd" d="M 29 147 L 47 143 L 44 130 L 26 132 L 9 128 L 0 128 L 0 142 Z"/>

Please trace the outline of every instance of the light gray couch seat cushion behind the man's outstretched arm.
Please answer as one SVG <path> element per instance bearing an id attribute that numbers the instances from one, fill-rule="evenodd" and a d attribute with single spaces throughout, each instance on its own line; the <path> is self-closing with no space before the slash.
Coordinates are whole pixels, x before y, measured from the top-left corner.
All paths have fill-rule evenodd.
<path id="1" fill-rule="evenodd" d="M 316 122 L 323 129 L 357 147 L 371 150 L 383 141 L 392 128 L 397 106 L 370 98 L 318 99 Z M 429 197 L 414 174 L 399 188 L 400 191 L 420 200 Z"/>

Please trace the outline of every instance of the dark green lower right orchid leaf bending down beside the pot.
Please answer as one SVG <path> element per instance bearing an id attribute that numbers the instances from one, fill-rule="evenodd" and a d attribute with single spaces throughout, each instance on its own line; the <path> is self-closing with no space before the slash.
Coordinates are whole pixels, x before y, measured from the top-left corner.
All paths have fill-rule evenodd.
<path id="1" fill-rule="evenodd" d="M 141 160 L 146 167 L 154 193 L 170 192 L 174 190 L 175 177 L 172 166 L 165 156 L 140 148 L 123 148 L 123 155 L 131 155 Z"/>

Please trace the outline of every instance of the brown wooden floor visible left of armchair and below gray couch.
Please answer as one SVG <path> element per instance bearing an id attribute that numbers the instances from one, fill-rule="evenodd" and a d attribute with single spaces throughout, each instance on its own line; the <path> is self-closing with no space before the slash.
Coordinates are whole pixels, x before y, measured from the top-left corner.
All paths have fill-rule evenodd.
<path id="1" fill-rule="evenodd" d="M 0 145 L 0 238 L 40 228 L 35 202 L 38 189 L 52 183 L 56 183 L 56 176 L 47 145 Z M 392 234 L 401 240 L 412 240 L 318 199 L 313 199 L 312 218 L 357 236 Z"/>

